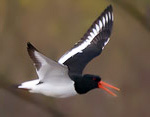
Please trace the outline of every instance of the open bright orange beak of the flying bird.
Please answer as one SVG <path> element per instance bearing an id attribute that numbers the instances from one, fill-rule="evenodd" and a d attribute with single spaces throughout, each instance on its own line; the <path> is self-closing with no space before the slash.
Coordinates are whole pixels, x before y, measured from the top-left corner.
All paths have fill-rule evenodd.
<path id="1" fill-rule="evenodd" d="M 111 95 L 113 95 L 113 96 L 117 96 L 117 95 L 116 95 L 115 93 L 113 93 L 112 91 L 110 91 L 109 89 L 105 88 L 104 86 L 109 87 L 109 88 L 112 88 L 112 89 L 115 89 L 115 90 L 117 90 L 117 91 L 120 91 L 119 88 L 117 88 L 117 87 L 115 87 L 115 86 L 112 86 L 112 85 L 110 85 L 110 84 L 108 84 L 108 83 L 106 83 L 106 82 L 100 81 L 100 82 L 98 83 L 98 87 L 104 89 L 105 91 L 107 91 L 109 94 L 111 94 Z"/>

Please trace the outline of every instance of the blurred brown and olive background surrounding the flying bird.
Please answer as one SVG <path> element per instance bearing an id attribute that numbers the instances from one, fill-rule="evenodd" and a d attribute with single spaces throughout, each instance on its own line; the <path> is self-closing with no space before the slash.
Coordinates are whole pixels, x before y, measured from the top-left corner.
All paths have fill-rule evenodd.
<path id="1" fill-rule="evenodd" d="M 109 5 L 111 40 L 84 73 L 121 89 L 54 99 L 13 84 L 37 77 L 29 41 L 58 60 Z M 150 0 L 0 0 L 0 117 L 150 117 Z"/>

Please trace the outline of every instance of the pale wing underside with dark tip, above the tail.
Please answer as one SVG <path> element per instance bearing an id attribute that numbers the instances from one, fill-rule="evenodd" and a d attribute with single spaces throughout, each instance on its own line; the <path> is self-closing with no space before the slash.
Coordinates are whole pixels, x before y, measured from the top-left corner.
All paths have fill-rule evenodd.
<path id="1" fill-rule="evenodd" d="M 67 73 L 67 68 L 65 66 L 47 58 L 29 42 L 27 43 L 27 50 L 36 67 L 36 72 L 40 81 L 43 81 L 44 79 L 52 80 L 57 75 L 63 76 L 63 74 Z"/>

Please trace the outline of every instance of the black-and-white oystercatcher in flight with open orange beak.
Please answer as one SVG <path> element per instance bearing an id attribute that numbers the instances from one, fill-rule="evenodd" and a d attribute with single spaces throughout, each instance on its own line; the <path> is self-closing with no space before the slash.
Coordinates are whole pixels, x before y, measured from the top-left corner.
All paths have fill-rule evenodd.
<path id="1" fill-rule="evenodd" d="M 18 88 L 32 93 L 65 98 L 101 88 L 116 96 L 108 88 L 119 88 L 107 84 L 100 76 L 82 74 L 83 69 L 94 57 L 101 54 L 108 43 L 113 26 L 112 6 L 108 6 L 95 20 L 87 33 L 58 62 L 41 54 L 31 43 L 27 43 L 28 54 L 34 62 L 38 79 L 27 81 Z"/>

